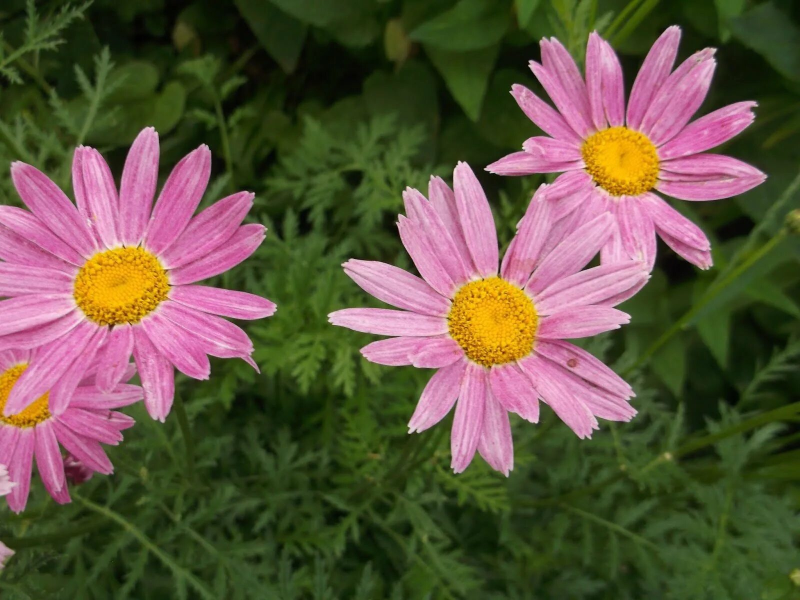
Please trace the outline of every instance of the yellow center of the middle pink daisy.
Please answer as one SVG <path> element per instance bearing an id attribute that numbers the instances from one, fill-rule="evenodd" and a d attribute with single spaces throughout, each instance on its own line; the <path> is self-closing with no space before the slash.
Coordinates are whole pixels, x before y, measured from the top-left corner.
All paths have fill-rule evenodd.
<path id="1" fill-rule="evenodd" d="M 505 279 L 470 282 L 453 298 L 450 337 L 483 366 L 512 362 L 534 347 L 538 315 L 530 298 Z"/>

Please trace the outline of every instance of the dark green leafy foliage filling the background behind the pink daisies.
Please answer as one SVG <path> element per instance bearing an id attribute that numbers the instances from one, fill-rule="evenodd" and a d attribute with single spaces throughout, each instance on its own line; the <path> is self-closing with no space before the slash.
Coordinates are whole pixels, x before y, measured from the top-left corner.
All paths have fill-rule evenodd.
<path id="1" fill-rule="evenodd" d="M 206 203 L 253 190 L 269 227 L 218 283 L 278 313 L 244 326 L 258 375 L 215 361 L 178 379 L 186 413 L 142 407 L 116 473 L 57 506 L 0 509 L 17 550 L 2 598 L 800 597 L 800 6 L 792 0 L 6 0 L 0 162 L 70 187 L 74 146 L 114 172 L 143 126 L 162 180 L 208 143 Z M 430 374 L 370 364 L 371 336 L 326 314 L 371 302 L 346 258 L 410 266 L 394 220 L 454 162 L 475 170 L 538 134 L 508 91 L 554 35 L 579 61 L 598 30 L 630 88 L 658 34 L 717 46 L 702 112 L 758 101 L 725 153 L 769 174 L 675 202 L 714 243 L 701 272 L 666 247 L 633 321 L 586 347 L 634 384 L 630 423 L 579 441 L 550 410 L 513 419 L 509 479 L 449 469 L 449 419 L 406 422 Z M 507 243 L 540 177 L 482 174 Z M 18 204 L 10 177 L 2 202 Z M 678 206 L 679 205 L 679 206 Z M 777 237 L 776 237 L 777 236 Z M 377 305 L 376 305 L 377 306 Z M 186 414 L 190 427 L 181 426 Z M 185 424 L 184 424 L 185 425 Z"/>

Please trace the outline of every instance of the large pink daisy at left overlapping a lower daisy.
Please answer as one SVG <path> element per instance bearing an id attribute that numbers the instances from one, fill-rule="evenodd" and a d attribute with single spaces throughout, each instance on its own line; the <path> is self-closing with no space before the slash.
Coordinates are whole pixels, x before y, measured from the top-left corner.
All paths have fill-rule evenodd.
<path id="1" fill-rule="evenodd" d="M 70 397 L 62 375 L 95 360 L 98 387 L 108 391 L 133 354 L 147 410 L 161 421 L 173 402 L 173 366 L 197 379 L 210 374 L 207 354 L 243 358 L 255 367 L 250 338 L 218 315 L 268 317 L 274 303 L 194 285 L 249 257 L 265 233 L 262 225 L 241 225 L 253 203 L 250 192 L 193 217 L 210 168 L 210 151 L 200 146 L 178 162 L 153 206 L 153 128 L 131 146 L 119 193 L 100 153 L 81 146 L 72 167 L 76 207 L 33 166 L 11 165 L 30 212 L 0 206 L 0 258 L 6 261 L 0 263 L 0 295 L 10 297 L 0 302 L 0 347 L 42 351 L 3 414 L 18 413 L 47 390 L 60 412 Z"/>

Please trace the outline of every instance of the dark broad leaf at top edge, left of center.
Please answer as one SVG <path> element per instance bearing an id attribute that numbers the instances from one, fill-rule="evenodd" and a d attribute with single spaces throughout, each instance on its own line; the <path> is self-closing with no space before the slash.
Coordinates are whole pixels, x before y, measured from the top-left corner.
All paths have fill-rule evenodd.
<path id="1" fill-rule="evenodd" d="M 286 73 L 298 64 L 306 42 L 306 25 L 290 17 L 266 0 L 235 0 L 242 17 L 261 43 Z"/>

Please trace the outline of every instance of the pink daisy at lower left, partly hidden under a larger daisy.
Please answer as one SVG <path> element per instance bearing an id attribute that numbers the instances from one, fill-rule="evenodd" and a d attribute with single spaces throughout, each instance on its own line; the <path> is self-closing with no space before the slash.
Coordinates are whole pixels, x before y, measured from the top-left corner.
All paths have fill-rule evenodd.
<path id="1" fill-rule="evenodd" d="M 7 406 L 22 374 L 33 370 L 42 354 L 42 350 L 0 351 L 0 409 Z M 116 446 L 122 442 L 120 432 L 134 425 L 134 419 L 111 409 L 141 400 L 141 387 L 118 383 L 104 392 L 96 385 L 94 370 L 71 372 L 71 376 L 78 381 L 63 410 L 54 411 L 50 391 L 17 414 L 6 416 L 0 410 L 0 462 L 8 465 L 10 478 L 18 484 L 6 497 L 14 512 L 24 510 L 28 502 L 34 457 L 45 489 L 56 502 L 64 504 L 70 502 L 70 494 L 59 445 L 90 469 L 110 474 L 114 467 L 100 444 Z M 121 379 L 127 381 L 133 376 L 130 365 Z"/>

